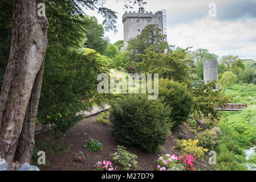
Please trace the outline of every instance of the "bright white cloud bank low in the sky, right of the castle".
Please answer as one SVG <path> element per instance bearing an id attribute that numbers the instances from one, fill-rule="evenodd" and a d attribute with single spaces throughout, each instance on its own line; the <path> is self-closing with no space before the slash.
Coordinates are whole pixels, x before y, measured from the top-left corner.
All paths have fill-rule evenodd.
<path id="1" fill-rule="evenodd" d="M 232 22 L 205 16 L 193 23 L 168 27 L 168 41 L 180 47 L 206 48 L 218 56 L 233 54 L 256 60 L 256 18 Z"/>

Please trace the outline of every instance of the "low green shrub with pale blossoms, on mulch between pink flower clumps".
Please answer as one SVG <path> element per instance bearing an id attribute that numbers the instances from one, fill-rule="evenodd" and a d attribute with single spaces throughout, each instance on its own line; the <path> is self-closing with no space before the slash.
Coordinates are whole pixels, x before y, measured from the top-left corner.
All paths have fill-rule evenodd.
<path id="1" fill-rule="evenodd" d="M 117 152 L 110 154 L 113 157 L 113 162 L 120 164 L 124 171 L 137 167 L 137 156 L 125 150 L 123 146 L 117 146 Z"/>

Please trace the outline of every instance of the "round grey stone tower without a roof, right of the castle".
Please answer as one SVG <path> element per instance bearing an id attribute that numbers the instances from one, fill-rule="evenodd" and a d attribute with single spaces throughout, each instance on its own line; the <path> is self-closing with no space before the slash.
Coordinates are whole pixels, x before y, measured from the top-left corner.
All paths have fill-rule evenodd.
<path id="1" fill-rule="evenodd" d="M 218 80 L 218 61 L 204 60 L 204 81 L 205 84 Z"/>

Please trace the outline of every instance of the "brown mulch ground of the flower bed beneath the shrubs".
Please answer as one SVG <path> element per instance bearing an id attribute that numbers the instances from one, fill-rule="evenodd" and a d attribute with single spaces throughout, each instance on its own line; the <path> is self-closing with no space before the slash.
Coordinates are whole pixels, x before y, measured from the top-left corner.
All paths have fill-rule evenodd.
<path id="1" fill-rule="evenodd" d="M 115 140 L 110 133 L 110 126 L 104 123 L 97 123 L 96 117 L 86 118 L 83 121 L 79 122 L 75 125 L 70 131 L 66 134 L 53 134 L 54 131 L 49 131 L 48 133 L 36 136 L 37 141 L 41 142 L 56 142 L 61 138 L 64 138 L 64 145 L 72 144 L 69 151 L 64 152 L 60 151 L 58 154 L 51 155 L 46 151 L 46 160 L 50 162 L 49 165 L 41 166 L 40 169 L 42 171 L 91 171 L 98 161 L 107 161 L 111 160 L 112 154 L 116 151 L 116 146 L 123 145 L 117 140 Z M 141 170 L 141 171 L 155 171 L 157 166 L 157 159 L 162 154 L 179 154 L 179 152 L 173 149 L 173 139 L 179 139 L 178 133 L 183 130 L 188 131 L 190 138 L 194 137 L 194 133 L 190 131 L 189 127 L 184 125 L 178 126 L 176 130 L 172 132 L 172 135 L 168 137 L 166 143 L 162 146 L 162 149 L 159 153 L 147 153 L 141 151 L 138 148 L 125 146 L 127 151 L 132 152 L 137 155 L 137 168 L 133 170 Z M 55 135 L 55 137 L 52 137 Z M 93 138 L 99 140 L 101 144 L 103 144 L 104 148 L 102 151 L 88 151 L 83 147 L 84 140 L 88 140 L 89 138 Z M 83 151 L 86 159 L 83 162 L 75 162 L 74 161 L 74 152 Z M 200 170 L 213 170 L 211 166 L 207 164 L 207 162 L 196 162 L 196 166 L 200 168 Z M 117 164 L 113 164 L 114 170 L 120 170 L 120 166 Z"/>

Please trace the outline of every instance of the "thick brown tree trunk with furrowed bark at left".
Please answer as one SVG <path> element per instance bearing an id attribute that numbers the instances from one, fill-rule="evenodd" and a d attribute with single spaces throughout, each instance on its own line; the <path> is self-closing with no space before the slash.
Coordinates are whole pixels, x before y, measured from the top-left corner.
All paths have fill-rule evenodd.
<path id="1" fill-rule="evenodd" d="M 9 62 L 0 96 L 0 157 L 10 169 L 30 163 L 47 48 L 48 21 L 38 3 L 16 0 Z"/>

